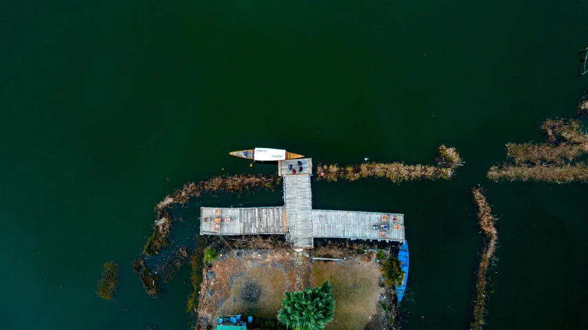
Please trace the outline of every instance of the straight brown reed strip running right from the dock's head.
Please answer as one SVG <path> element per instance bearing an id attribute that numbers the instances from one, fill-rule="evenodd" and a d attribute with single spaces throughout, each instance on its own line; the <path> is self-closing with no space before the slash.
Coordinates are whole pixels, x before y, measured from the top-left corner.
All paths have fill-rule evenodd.
<path id="1" fill-rule="evenodd" d="M 321 165 L 316 168 L 316 180 L 337 181 L 338 179 L 356 181 L 360 178 L 388 178 L 393 183 L 416 180 L 449 180 L 461 164 L 455 148 L 441 145 L 437 149 L 437 165 L 405 165 L 404 163 L 363 163 L 358 165 Z"/>

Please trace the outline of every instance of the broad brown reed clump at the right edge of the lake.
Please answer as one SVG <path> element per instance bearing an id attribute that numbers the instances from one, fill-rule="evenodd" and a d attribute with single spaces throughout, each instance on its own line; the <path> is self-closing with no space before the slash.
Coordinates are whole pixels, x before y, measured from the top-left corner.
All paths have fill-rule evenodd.
<path id="1" fill-rule="evenodd" d="M 588 135 L 580 121 L 548 119 L 541 130 L 545 132 L 543 144 L 507 143 L 511 163 L 491 167 L 487 177 L 494 181 L 588 182 L 588 168 L 574 163 L 588 152 Z"/>

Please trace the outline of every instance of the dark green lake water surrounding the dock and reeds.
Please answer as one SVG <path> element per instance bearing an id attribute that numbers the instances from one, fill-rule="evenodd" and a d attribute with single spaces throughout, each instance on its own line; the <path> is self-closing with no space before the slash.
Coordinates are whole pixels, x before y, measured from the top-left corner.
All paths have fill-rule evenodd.
<path id="1" fill-rule="evenodd" d="M 466 163 L 449 182 L 313 183 L 315 208 L 405 214 L 403 329 L 467 326 L 478 183 L 500 218 L 486 328 L 586 328 L 588 186 L 485 172 L 505 143 L 541 141 L 543 119 L 575 116 L 587 1 L 53 2 L 0 11 L 0 329 L 187 329 L 188 269 L 152 299 L 131 260 L 176 187 L 275 171 L 232 150 L 432 163 L 442 143 Z M 202 205 L 236 203 L 281 195 Z"/>

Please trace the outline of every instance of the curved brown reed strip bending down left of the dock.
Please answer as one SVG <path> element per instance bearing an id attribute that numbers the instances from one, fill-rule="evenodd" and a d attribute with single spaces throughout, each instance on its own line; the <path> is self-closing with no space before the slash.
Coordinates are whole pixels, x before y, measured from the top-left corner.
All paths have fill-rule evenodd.
<path id="1" fill-rule="evenodd" d="M 186 183 L 181 189 L 176 189 L 172 194 L 165 196 L 155 206 L 157 220 L 153 234 L 150 236 L 143 254 L 152 256 L 159 253 L 159 249 L 168 245 L 168 234 L 172 227 L 170 207 L 175 204 L 185 204 L 192 197 L 200 197 L 202 194 L 214 192 L 228 192 L 239 194 L 250 189 L 274 189 L 280 178 L 265 176 L 264 174 L 234 176 L 215 176 L 199 183 Z"/>

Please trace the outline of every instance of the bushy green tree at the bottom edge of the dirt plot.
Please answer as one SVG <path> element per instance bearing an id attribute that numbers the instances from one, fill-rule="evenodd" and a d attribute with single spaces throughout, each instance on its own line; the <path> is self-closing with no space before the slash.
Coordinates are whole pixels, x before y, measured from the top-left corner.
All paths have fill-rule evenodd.
<path id="1" fill-rule="evenodd" d="M 321 330 L 333 320 L 333 289 L 326 281 L 321 287 L 285 292 L 278 320 L 294 330 Z"/>

